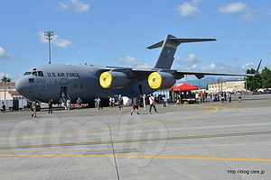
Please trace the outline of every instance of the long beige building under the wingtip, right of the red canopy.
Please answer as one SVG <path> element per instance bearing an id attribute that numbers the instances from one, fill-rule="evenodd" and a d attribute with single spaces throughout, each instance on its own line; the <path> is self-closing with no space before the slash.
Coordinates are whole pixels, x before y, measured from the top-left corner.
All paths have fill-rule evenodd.
<path id="1" fill-rule="evenodd" d="M 245 82 L 245 80 L 228 80 L 210 83 L 208 84 L 208 90 L 210 93 L 246 91 Z"/>

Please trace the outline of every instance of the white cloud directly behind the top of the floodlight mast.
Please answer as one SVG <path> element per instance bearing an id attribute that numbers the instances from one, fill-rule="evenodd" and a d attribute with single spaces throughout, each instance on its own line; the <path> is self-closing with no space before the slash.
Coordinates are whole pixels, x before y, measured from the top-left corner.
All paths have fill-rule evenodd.
<path id="1" fill-rule="evenodd" d="M 44 31 L 38 31 L 37 32 L 38 36 L 39 36 L 39 40 L 42 41 L 43 43 L 48 43 L 48 40 L 46 40 L 46 36 L 44 36 Z M 52 40 L 51 40 L 51 44 L 54 44 L 58 47 L 61 48 L 68 48 L 69 45 L 74 45 L 74 43 L 70 40 L 64 40 L 61 39 L 58 35 L 54 34 L 53 36 L 51 36 Z"/>

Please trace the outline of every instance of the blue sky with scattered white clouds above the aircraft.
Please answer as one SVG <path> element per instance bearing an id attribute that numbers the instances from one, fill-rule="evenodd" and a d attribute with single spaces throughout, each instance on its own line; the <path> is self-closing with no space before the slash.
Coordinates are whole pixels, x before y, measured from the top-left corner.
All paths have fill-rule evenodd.
<path id="1" fill-rule="evenodd" d="M 176 38 L 214 38 L 182 43 L 173 62 L 183 71 L 245 74 L 271 68 L 269 0 L 9 0 L 0 3 L 0 76 L 15 82 L 49 63 L 97 66 L 154 66 L 158 49 Z M 194 76 L 186 77 L 195 79 Z"/>

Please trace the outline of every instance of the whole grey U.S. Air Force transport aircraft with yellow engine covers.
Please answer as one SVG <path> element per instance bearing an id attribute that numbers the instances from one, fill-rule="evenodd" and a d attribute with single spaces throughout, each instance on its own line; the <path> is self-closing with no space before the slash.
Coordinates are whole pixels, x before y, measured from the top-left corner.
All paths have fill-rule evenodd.
<path id="1" fill-rule="evenodd" d="M 16 90 L 24 97 L 48 103 L 61 98 L 70 98 L 75 103 L 78 97 L 84 103 L 93 103 L 95 96 L 132 97 L 133 94 L 151 94 L 158 89 L 172 87 L 176 79 L 184 75 L 253 76 L 240 74 L 183 72 L 171 69 L 177 47 L 184 42 L 210 41 L 215 39 L 178 39 L 167 34 L 147 49 L 162 47 L 154 68 L 100 67 L 93 65 L 46 64 L 27 70 L 16 82 Z M 63 94 L 65 97 L 63 97 Z"/>

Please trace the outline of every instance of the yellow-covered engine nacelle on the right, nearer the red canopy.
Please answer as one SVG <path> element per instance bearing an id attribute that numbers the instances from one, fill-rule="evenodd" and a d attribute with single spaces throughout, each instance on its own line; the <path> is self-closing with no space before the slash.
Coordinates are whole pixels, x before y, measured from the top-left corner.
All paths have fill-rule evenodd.
<path id="1" fill-rule="evenodd" d="M 148 84 L 153 89 L 170 88 L 176 83 L 174 76 L 166 72 L 154 72 L 148 77 Z"/>

